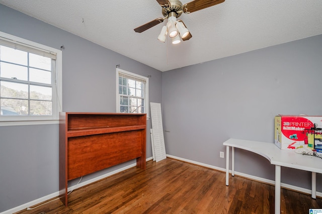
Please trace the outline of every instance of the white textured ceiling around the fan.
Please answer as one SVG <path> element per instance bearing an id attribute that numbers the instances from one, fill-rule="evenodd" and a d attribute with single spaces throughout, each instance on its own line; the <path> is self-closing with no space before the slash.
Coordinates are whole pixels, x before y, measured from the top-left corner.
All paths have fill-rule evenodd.
<path id="1" fill-rule="evenodd" d="M 191 0 L 182 0 L 183 4 Z M 173 45 L 159 42 L 163 17 L 153 0 L 0 0 L 0 3 L 160 71 L 172 70 L 322 34 L 320 0 L 226 0 L 183 14 L 192 34 Z"/>

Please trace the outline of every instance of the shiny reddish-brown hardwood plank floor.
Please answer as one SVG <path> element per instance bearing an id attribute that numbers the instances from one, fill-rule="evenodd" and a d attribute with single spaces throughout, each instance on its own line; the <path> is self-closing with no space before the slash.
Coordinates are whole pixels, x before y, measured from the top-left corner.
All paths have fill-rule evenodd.
<path id="1" fill-rule="evenodd" d="M 17 213 L 274 213 L 274 186 L 167 158 L 148 161 L 72 191 L 68 207 L 57 199 Z M 322 208 L 322 198 L 281 190 L 281 213 Z M 37 205 L 35 205 L 37 206 Z"/>

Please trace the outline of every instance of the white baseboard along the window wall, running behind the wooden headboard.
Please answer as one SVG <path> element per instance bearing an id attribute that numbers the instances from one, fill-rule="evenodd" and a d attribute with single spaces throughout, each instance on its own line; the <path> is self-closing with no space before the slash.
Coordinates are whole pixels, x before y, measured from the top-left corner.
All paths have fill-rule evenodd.
<path id="1" fill-rule="evenodd" d="M 152 160 L 152 157 L 149 157 L 149 158 L 146 158 L 146 159 L 145 159 L 145 161 L 149 161 L 149 160 Z M 82 182 L 82 183 L 75 184 L 75 185 L 73 185 L 73 186 L 68 187 L 68 191 L 71 191 L 71 190 L 77 189 L 77 188 L 79 188 L 79 187 L 83 187 L 83 186 L 88 185 L 88 184 L 90 184 L 90 183 L 94 183 L 94 182 L 96 182 L 96 181 L 98 181 L 98 180 L 101 180 L 101 179 L 103 179 L 103 178 L 109 177 L 109 176 L 111 176 L 111 175 L 114 175 L 114 174 L 116 174 L 116 173 L 119 173 L 119 172 L 121 172 L 121 171 L 124 171 L 124 170 L 129 169 L 129 168 L 134 167 L 134 166 L 136 166 L 136 163 L 133 163 L 133 164 L 130 164 L 130 165 L 124 166 L 124 167 L 122 167 L 122 168 L 120 168 L 120 169 L 116 169 L 116 170 L 114 170 L 114 171 L 111 171 L 111 172 L 108 172 L 108 173 L 106 173 L 106 174 L 100 175 L 100 176 L 98 176 L 98 177 L 92 178 L 92 179 L 90 179 L 90 180 L 84 181 L 84 182 Z M 46 200 L 52 199 L 52 198 L 57 197 L 57 196 L 59 196 L 59 191 L 54 192 L 54 193 L 51 193 L 51 194 L 46 195 L 46 196 L 43 196 L 43 197 L 40 197 L 40 198 L 37 198 L 37 199 L 35 199 L 35 200 L 33 200 L 33 201 L 30 201 L 30 202 L 27 202 L 27 203 L 21 204 L 21 205 L 19 205 L 19 206 L 16 206 L 16 207 L 14 207 L 14 208 L 8 209 L 8 210 L 6 210 L 6 211 L 0 212 L 0 214 L 12 214 L 12 213 L 15 213 L 15 212 L 21 211 L 21 210 L 23 210 L 23 209 L 26 209 L 26 208 L 28 208 L 28 207 L 34 206 L 34 205 L 36 205 L 36 204 L 39 204 L 39 203 L 41 203 L 41 202 L 44 202 L 44 201 L 46 201 Z M 57 199 L 57 200 L 58 200 L 58 199 Z"/>

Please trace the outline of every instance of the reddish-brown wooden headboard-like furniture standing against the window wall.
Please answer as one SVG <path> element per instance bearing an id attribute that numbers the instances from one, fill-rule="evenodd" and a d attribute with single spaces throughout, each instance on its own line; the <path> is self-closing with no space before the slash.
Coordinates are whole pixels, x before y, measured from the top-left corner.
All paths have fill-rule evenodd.
<path id="1" fill-rule="evenodd" d="M 132 159 L 145 169 L 146 115 L 60 113 L 59 196 L 67 202 L 67 181 Z"/>

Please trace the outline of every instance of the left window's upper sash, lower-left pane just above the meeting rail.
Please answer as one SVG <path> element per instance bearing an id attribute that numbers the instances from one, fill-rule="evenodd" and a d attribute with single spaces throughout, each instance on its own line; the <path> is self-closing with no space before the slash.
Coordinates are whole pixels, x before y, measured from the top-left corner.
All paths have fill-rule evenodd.
<path id="1" fill-rule="evenodd" d="M 25 66 L 0 62 L 0 76 L 11 79 L 28 80 L 28 69 Z"/>

